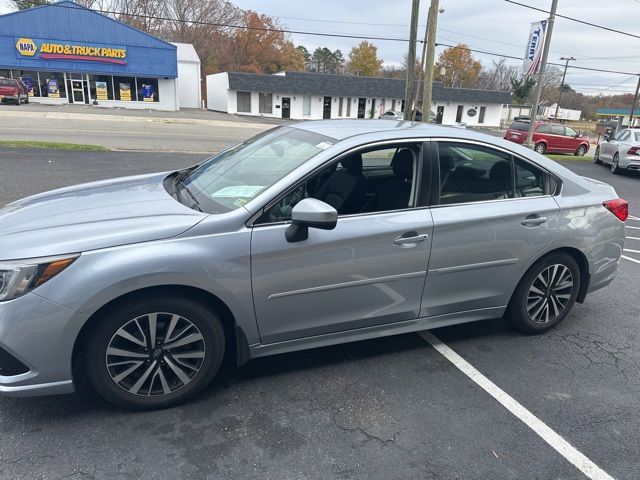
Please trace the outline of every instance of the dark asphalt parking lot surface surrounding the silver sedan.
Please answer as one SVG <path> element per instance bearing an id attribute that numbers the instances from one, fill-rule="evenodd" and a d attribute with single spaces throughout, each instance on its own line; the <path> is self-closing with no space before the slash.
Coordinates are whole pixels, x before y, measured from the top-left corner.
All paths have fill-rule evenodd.
<path id="1" fill-rule="evenodd" d="M 202 158 L 0 150 L 0 205 Z M 539 424 L 519 419 L 464 364 L 408 334 L 227 365 L 197 399 L 161 412 L 118 409 L 84 386 L 0 398 L 0 478 L 639 478 L 640 177 L 564 164 L 631 204 L 616 281 L 540 336 L 503 320 L 432 333 L 573 453 L 559 453 L 548 432 L 556 448 L 543 440 Z M 575 466 L 590 465 L 584 459 L 601 470 L 585 476 Z"/>

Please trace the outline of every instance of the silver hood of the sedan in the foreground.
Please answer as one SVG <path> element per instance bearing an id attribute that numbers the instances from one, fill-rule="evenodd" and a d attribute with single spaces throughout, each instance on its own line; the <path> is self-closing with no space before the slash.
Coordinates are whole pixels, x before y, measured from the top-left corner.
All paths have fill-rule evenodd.
<path id="1" fill-rule="evenodd" d="M 78 253 L 173 237 L 205 214 L 167 193 L 168 173 L 86 183 L 0 208 L 0 260 Z"/>

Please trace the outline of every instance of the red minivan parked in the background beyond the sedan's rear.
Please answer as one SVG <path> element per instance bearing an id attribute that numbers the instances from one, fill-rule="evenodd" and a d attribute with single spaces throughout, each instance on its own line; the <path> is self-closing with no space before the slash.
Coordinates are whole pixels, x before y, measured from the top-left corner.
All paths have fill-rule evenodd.
<path id="1" fill-rule="evenodd" d="M 513 122 L 504 139 L 523 144 L 529 133 L 529 122 Z M 560 123 L 536 121 L 533 130 L 534 150 L 538 153 L 573 153 L 584 155 L 589 151 L 589 140 L 573 128 Z"/>

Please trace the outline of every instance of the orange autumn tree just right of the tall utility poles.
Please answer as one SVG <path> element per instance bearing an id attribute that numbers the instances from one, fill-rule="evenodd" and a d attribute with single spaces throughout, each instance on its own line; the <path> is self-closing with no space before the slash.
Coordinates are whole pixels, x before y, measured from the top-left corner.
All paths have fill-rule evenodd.
<path id="1" fill-rule="evenodd" d="M 475 88 L 478 86 L 482 64 L 473 58 L 468 46 L 459 44 L 443 50 L 435 68 L 436 80 L 443 82 L 445 86 Z"/>

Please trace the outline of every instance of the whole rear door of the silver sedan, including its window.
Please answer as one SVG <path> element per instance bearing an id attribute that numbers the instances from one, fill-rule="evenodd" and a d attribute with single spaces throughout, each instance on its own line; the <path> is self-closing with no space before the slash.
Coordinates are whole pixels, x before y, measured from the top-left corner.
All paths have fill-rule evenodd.
<path id="1" fill-rule="evenodd" d="M 559 208 L 549 174 L 509 152 L 434 142 L 440 170 L 420 315 L 500 315 L 526 268 L 552 241 Z"/>

